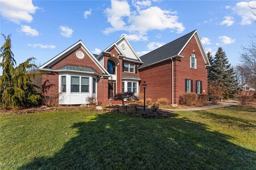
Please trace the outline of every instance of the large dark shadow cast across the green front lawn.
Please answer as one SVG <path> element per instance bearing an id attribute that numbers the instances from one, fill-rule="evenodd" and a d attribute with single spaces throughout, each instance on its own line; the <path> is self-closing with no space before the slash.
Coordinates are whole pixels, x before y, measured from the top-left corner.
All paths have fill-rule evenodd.
<path id="1" fill-rule="evenodd" d="M 78 130 L 53 157 L 21 169 L 255 169 L 256 152 L 186 119 L 142 119 L 116 113 L 74 123 Z"/>

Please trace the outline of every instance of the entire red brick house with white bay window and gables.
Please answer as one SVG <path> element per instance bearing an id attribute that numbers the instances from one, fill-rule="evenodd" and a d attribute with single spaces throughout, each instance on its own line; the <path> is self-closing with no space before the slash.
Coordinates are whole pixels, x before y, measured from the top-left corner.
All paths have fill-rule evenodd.
<path id="1" fill-rule="evenodd" d="M 167 97 L 178 104 L 185 92 L 207 94 L 208 66 L 196 30 L 142 57 L 125 36 L 100 55 L 80 40 L 39 67 L 46 73 L 42 98 L 54 99 L 54 105 L 80 105 L 95 96 L 98 103 L 109 104 L 116 93 L 143 93 L 146 81 L 146 98 Z"/>

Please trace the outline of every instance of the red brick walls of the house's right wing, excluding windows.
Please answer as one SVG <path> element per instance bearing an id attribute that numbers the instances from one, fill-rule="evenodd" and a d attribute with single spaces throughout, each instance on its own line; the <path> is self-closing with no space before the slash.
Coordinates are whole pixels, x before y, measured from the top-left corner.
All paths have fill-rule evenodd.
<path id="1" fill-rule="evenodd" d="M 190 55 L 194 52 L 196 69 L 190 68 Z M 174 104 L 179 103 L 179 97 L 185 93 L 185 79 L 193 80 L 193 93 L 196 92 L 196 80 L 202 81 L 202 92 L 207 94 L 207 69 L 196 39 L 192 38 L 181 53 L 180 61 L 174 59 Z M 156 56 L 157 57 L 157 56 Z M 172 102 L 172 60 L 164 61 L 150 67 L 140 69 L 141 82 L 146 81 L 146 98 L 156 102 L 160 97 L 166 97 Z M 142 83 L 140 92 L 143 93 Z"/>

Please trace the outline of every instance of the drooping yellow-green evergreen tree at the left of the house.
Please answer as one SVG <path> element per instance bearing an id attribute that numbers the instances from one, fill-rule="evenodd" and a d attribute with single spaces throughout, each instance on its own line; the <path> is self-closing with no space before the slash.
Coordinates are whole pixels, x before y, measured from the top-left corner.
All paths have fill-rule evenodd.
<path id="1" fill-rule="evenodd" d="M 40 95 L 36 93 L 35 88 L 38 87 L 31 83 L 30 79 L 42 73 L 27 72 L 27 69 L 36 67 L 30 64 L 35 58 L 29 58 L 18 67 L 14 68 L 16 61 L 11 51 L 10 35 L 7 37 L 2 34 L 5 39 L 4 45 L 1 47 L 0 57 L 3 57 L 0 67 L 3 68 L 3 75 L 0 77 L 0 99 L 3 108 L 19 108 L 24 105 L 36 105 L 40 100 Z"/>

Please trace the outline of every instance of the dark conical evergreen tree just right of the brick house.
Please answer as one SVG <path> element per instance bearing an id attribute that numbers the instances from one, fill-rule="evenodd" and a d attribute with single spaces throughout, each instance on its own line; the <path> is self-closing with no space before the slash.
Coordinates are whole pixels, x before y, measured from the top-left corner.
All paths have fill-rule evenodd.
<path id="1" fill-rule="evenodd" d="M 208 70 L 208 83 L 209 95 L 216 94 L 228 98 L 238 90 L 234 69 L 228 63 L 226 53 L 221 47 L 215 54 L 210 71 Z"/>

